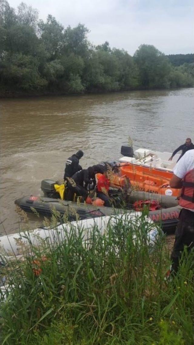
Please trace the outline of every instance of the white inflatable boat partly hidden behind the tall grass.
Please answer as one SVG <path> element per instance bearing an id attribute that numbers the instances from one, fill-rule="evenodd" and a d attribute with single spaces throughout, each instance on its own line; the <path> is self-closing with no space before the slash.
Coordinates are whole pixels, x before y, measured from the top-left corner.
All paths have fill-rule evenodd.
<path id="1" fill-rule="evenodd" d="M 147 245 L 153 246 L 158 236 L 157 226 L 149 217 L 143 217 L 141 212 L 133 212 L 130 214 L 119 214 L 114 216 L 103 216 L 99 218 L 89 218 L 79 221 L 73 221 L 71 223 L 58 225 L 55 228 L 37 228 L 28 232 L 11 234 L 8 236 L 1 236 L 1 260 L 8 262 L 12 259 L 20 259 L 23 255 L 32 255 L 32 246 L 39 246 L 43 244 L 45 240 L 46 245 L 52 246 L 52 244 L 59 244 L 67 239 L 68 234 L 73 228 L 78 233 L 79 229 L 83 231 L 83 244 L 90 245 L 91 233 L 93 231 L 100 231 L 100 233 L 106 234 L 106 231 L 122 223 L 122 225 L 129 226 L 129 230 L 143 229 L 147 231 Z M 138 231 L 138 230 L 136 230 Z M 135 233 L 135 231 L 134 231 Z M 133 236 L 133 240 L 137 240 L 136 236 Z M 31 245 L 29 246 L 29 243 Z M 4 302 L 8 295 L 14 289 L 13 285 L 5 284 L 0 287 L 0 301 Z"/>

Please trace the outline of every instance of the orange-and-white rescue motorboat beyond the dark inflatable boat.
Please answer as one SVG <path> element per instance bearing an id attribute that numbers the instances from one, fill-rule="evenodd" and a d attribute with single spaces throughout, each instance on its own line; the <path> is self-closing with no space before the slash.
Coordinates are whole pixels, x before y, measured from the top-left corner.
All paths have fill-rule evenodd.
<path id="1" fill-rule="evenodd" d="M 119 172 L 114 174 L 113 183 L 123 186 L 126 178 L 129 178 L 135 190 L 178 196 L 180 189 L 171 188 L 169 181 L 180 155 L 175 155 L 173 161 L 168 161 L 171 156 L 170 152 L 138 149 L 133 157 L 125 156 L 119 159 Z"/>

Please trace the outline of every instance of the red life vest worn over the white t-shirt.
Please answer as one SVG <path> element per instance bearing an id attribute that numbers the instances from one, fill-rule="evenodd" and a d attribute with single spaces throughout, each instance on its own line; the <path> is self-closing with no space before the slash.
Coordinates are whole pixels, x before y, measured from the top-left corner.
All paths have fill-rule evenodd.
<path id="1" fill-rule="evenodd" d="M 194 169 L 188 171 L 183 179 L 178 205 L 194 210 Z"/>

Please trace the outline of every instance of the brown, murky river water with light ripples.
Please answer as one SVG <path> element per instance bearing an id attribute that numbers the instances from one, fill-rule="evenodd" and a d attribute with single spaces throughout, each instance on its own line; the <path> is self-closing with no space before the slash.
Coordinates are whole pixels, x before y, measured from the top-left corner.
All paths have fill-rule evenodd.
<path id="1" fill-rule="evenodd" d="M 41 195 L 44 178 L 60 179 L 65 160 L 84 151 L 81 166 L 120 157 L 138 147 L 172 152 L 194 141 L 194 89 L 0 100 L 0 233 L 18 232 L 14 200 Z M 36 226 L 30 216 L 30 227 Z"/>

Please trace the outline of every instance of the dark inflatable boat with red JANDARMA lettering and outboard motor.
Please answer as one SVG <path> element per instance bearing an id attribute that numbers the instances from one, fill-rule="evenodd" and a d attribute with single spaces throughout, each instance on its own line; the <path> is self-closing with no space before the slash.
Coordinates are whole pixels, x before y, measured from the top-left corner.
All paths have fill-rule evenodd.
<path id="1" fill-rule="evenodd" d="M 74 201 L 66 201 L 57 198 L 52 198 L 51 195 L 54 195 L 54 184 L 53 180 L 43 180 L 41 183 L 41 189 L 44 194 L 49 195 L 38 197 L 38 196 L 26 196 L 19 198 L 15 201 L 15 204 L 20 206 L 23 210 L 27 212 L 32 212 L 35 209 L 39 214 L 50 216 L 53 212 L 53 209 L 56 209 L 61 215 L 65 213 L 71 213 L 72 209 L 76 211 L 80 219 L 85 219 L 88 217 L 100 217 L 102 215 L 112 215 L 116 213 L 124 212 L 133 212 L 132 209 L 122 210 L 122 209 L 113 209 L 111 207 L 97 207 L 93 205 L 84 205 L 77 204 Z M 55 196 L 55 195 L 54 195 Z M 175 231 L 178 216 L 181 207 L 177 205 L 177 200 L 174 197 L 163 196 L 163 195 L 153 195 L 150 193 L 133 191 L 129 195 L 130 201 L 133 203 L 135 200 L 139 199 L 157 199 L 162 205 L 162 209 L 149 211 L 149 217 L 155 223 L 161 223 L 163 231 L 165 233 L 173 233 Z M 72 215 L 73 218 L 73 215 Z"/>

